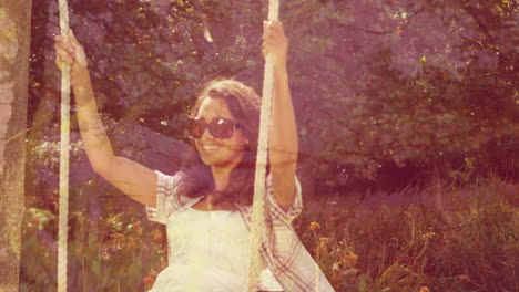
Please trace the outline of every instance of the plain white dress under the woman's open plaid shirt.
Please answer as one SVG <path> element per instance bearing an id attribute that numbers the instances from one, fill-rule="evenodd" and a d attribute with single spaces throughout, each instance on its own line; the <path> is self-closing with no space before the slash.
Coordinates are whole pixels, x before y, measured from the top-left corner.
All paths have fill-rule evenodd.
<path id="1" fill-rule="evenodd" d="M 150 292 L 247 291 L 250 232 L 244 219 L 240 211 L 193 209 L 200 199 L 167 216 L 169 265 Z M 260 290 L 283 288 L 265 269 Z"/>

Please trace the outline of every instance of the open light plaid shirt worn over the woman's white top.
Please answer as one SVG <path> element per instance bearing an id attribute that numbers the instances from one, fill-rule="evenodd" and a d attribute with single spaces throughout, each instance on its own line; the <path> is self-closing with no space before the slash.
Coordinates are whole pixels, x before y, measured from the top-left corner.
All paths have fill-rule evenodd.
<path id="1" fill-rule="evenodd" d="M 166 223 L 173 211 L 191 208 L 200 198 L 180 198 L 175 186 L 182 179 L 182 174 L 166 176 L 157 174 L 156 208 L 146 206 L 147 218 L 152 221 Z M 320 271 L 312 255 L 301 243 L 297 233 L 292 228 L 292 221 L 303 209 L 301 184 L 296 180 L 296 196 L 291 209 L 285 212 L 276 202 L 272 188 L 272 177 L 266 179 L 266 238 L 261 248 L 263 268 L 268 267 L 276 280 L 286 292 L 334 291 L 326 277 Z M 247 229 L 252 223 L 252 208 L 238 206 Z"/>

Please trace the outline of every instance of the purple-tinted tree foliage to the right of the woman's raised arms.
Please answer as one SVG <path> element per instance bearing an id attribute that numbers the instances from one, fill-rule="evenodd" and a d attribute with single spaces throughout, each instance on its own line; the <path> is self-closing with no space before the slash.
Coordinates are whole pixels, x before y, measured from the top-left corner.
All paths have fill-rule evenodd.
<path id="1" fill-rule="evenodd" d="M 480 169 L 506 160 L 486 155 L 497 150 L 495 139 L 502 154 L 517 145 L 517 115 L 503 108 L 517 107 L 517 55 L 493 36 L 510 32 L 512 10 L 489 18 L 500 4 L 490 2 L 493 9 L 488 1 L 301 6 L 313 13 L 296 34 L 294 87 L 303 90 L 302 147 L 318 177 L 344 168 L 375 179 L 391 164 L 444 173 L 467 157 Z M 491 19 L 488 27 L 481 18 Z M 297 66 L 304 62 L 317 65 Z"/>

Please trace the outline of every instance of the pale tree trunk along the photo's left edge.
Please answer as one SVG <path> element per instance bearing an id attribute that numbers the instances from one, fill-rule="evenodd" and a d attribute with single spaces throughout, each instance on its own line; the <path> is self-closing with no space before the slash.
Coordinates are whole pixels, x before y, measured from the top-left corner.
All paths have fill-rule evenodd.
<path id="1" fill-rule="evenodd" d="M 0 291 L 18 291 L 31 0 L 0 0 Z"/>

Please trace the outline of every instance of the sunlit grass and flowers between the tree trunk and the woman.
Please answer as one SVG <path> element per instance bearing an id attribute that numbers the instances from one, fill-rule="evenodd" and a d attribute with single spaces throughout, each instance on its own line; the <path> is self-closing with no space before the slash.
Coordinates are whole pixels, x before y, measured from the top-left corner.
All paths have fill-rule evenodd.
<path id="1" fill-rule="evenodd" d="M 57 226 L 53 213 L 28 210 L 20 291 L 57 289 Z M 165 230 L 142 220 L 142 211 L 74 212 L 69 226 L 68 285 L 74 291 L 146 291 L 166 265 Z"/>

